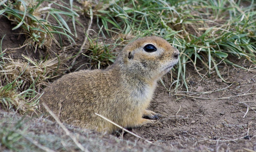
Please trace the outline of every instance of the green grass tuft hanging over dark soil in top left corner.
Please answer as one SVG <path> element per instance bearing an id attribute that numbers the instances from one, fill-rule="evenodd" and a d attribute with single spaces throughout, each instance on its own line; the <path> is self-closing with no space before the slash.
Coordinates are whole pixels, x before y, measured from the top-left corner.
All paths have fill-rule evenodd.
<path id="1" fill-rule="evenodd" d="M 25 44 L 35 48 L 43 46 L 50 48 L 54 41 L 61 47 L 61 35 L 67 37 L 71 44 L 75 44 L 71 36 L 77 36 L 74 17 L 77 17 L 78 14 L 66 7 L 64 3 L 60 5 L 47 0 L 5 0 L 0 4 L 0 7 L 3 8 L 0 10 L 0 15 L 16 24 L 13 30 L 22 28 L 23 34 L 28 35 L 29 38 Z M 54 8 L 56 6 L 61 9 Z M 70 18 L 73 19 L 74 34 L 66 21 Z M 54 35 L 59 36 L 59 42 Z"/>

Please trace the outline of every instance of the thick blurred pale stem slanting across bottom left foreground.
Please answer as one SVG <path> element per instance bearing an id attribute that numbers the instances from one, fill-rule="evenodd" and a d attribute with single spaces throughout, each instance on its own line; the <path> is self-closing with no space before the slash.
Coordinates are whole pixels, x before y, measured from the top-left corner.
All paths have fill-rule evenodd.
<path id="1" fill-rule="evenodd" d="M 60 120 L 56 117 L 56 115 L 48 108 L 48 106 L 45 103 L 42 103 L 42 105 L 45 107 L 45 109 L 49 112 L 49 114 L 56 120 L 56 122 L 60 125 L 60 127 L 65 131 L 66 135 L 68 135 L 73 142 L 82 150 L 89 152 L 87 149 L 81 145 L 77 139 L 68 131 L 68 129 L 60 122 Z"/>

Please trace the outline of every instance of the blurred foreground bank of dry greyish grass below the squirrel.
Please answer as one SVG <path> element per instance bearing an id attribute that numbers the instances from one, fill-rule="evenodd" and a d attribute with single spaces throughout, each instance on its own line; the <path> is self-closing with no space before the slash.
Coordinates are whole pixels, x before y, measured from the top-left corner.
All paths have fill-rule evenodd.
<path id="1" fill-rule="evenodd" d="M 43 118 L 0 112 L 0 119 L 0 136 L 3 137 L 0 138 L 0 151 L 167 151 L 152 144 L 125 141 L 64 124 L 69 132 L 67 135 L 59 124 Z M 70 136 L 84 149 L 81 150 Z"/>

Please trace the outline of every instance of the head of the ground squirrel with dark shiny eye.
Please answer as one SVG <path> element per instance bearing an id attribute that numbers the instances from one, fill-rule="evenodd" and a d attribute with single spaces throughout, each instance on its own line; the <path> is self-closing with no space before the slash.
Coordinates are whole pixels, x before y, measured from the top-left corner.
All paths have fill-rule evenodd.
<path id="1" fill-rule="evenodd" d="M 146 81 L 156 81 L 178 62 L 179 51 L 165 39 L 148 36 L 137 39 L 118 54 L 116 64 L 125 68 L 127 75 Z"/>

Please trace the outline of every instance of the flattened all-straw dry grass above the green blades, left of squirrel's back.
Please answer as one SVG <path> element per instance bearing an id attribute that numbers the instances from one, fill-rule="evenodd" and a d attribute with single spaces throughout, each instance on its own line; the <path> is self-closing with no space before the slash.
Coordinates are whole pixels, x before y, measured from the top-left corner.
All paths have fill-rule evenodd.
<path id="1" fill-rule="evenodd" d="M 25 60 L 14 60 L 10 56 L 8 58 L 3 57 L 4 62 L 0 71 L 1 86 L 15 80 L 14 85 L 19 86 L 20 90 L 27 90 L 33 85 L 39 91 L 42 86 L 47 85 L 47 78 L 59 76 L 68 70 L 64 64 L 68 58 L 65 54 L 39 62 L 24 55 L 23 58 Z M 23 73 L 21 74 L 21 72 Z"/>

